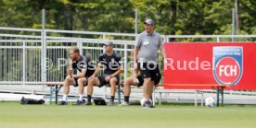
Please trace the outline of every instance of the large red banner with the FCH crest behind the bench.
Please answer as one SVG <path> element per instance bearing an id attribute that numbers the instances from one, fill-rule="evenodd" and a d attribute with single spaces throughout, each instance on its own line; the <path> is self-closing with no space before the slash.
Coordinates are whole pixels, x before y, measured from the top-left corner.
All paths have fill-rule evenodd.
<path id="1" fill-rule="evenodd" d="M 165 49 L 164 84 L 219 84 L 231 85 L 226 89 L 256 90 L 254 42 L 170 42 Z"/>

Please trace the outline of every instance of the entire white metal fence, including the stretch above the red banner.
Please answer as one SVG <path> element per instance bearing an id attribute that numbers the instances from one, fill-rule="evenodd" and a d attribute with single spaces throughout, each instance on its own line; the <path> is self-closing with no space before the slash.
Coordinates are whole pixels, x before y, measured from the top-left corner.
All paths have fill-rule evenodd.
<path id="1" fill-rule="evenodd" d="M 126 62 L 123 64 L 123 81 L 131 76 L 127 62 L 133 60 L 135 38 L 136 35 L 130 33 L 0 27 L 0 86 L 19 87 L 44 81 L 63 81 L 66 67 L 59 66 L 58 58 L 68 58 L 71 46 L 78 46 L 82 54 L 96 61 L 103 52 L 102 43 L 109 39 L 115 42 L 115 51 Z M 232 38 L 236 41 L 255 41 L 256 35 L 162 35 L 164 42 L 222 42 L 231 41 Z M 46 69 L 45 61 L 49 60 L 52 61 L 52 68 Z M 16 87 L 11 89 L 16 90 Z"/>

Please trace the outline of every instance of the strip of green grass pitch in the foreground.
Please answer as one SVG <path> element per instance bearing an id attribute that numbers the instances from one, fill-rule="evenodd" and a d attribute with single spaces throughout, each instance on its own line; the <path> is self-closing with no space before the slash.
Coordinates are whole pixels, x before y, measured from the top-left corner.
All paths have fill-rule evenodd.
<path id="1" fill-rule="evenodd" d="M 0 102 L 0 128 L 251 128 L 256 106 L 56 106 Z"/>

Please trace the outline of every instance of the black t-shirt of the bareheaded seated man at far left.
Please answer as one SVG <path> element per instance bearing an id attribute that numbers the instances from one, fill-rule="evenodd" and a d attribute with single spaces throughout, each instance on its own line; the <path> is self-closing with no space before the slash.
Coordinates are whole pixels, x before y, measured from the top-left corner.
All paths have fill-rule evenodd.
<path id="1" fill-rule="evenodd" d="M 92 76 L 95 72 L 95 67 L 91 63 L 91 59 L 87 56 L 80 56 L 79 61 L 73 61 L 72 68 L 82 72 L 82 69 L 86 69 L 85 76 Z"/>

